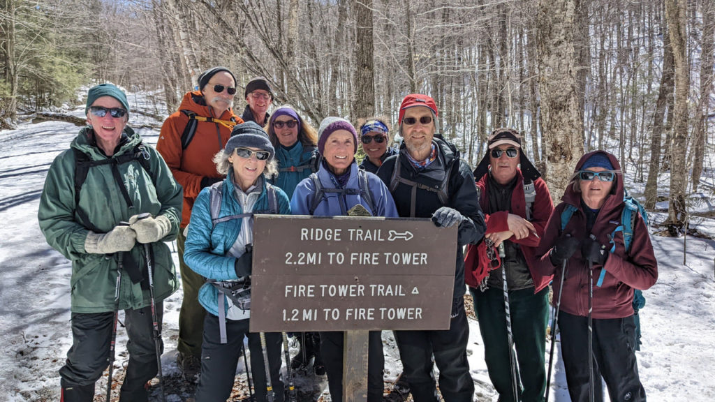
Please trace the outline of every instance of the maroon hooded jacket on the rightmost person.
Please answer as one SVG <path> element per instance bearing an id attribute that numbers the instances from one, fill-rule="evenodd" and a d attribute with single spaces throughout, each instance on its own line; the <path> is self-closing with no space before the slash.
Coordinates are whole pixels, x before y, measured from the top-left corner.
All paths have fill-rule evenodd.
<path id="1" fill-rule="evenodd" d="M 625 206 L 623 204 L 623 174 L 616 157 L 603 151 L 594 151 L 583 155 L 576 165 L 576 172 L 581 170 L 583 163 L 596 152 L 606 154 L 611 160 L 613 168 L 618 170 L 616 182 L 611 190 L 612 194 L 606 198 L 591 229 L 591 233 L 596 236 L 598 242 L 610 247 L 609 237 L 616 226 L 621 225 L 621 212 Z M 577 210 L 568 220 L 564 232 L 570 233 L 579 240 L 590 235 L 590 233 L 586 233 L 586 215 L 581 207 L 581 193 L 574 189 L 578 186 L 574 185 L 577 182 L 578 180 L 574 178 L 566 187 L 566 191 L 561 197 L 563 202 L 557 205 L 556 210 L 553 211 L 551 219 L 546 225 L 546 233 L 541 240 L 541 245 L 537 248 L 537 253 L 541 256 L 538 269 L 543 275 L 556 274 L 553 280 L 553 300 L 558 300 L 561 269 L 551 264 L 549 253 L 561 235 L 561 212 L 567 204 L 575 206 Z M 636 225 L 633 227 L 631 255 L 626 254 L 622 231 L 616 232 L 613 242 L 615 242 L 616 250 L 608 255 L 606 264 L 593 266 L 593 318 L 625 318 L 633 315 L 633 289 L 648 289 L 658 279 L 658 262 L 653 252 L 648 227 L 641 217 L 636 219 Z M 586 267 L 581 250 L 576 250 L 566 264 L 566 278 L 563 281 L 561 310 L 566 313 L 583 317 L 588 315 L 588 268 Z M 599 288 L 596 283 L 598 276 L 601 275 L 601 268 L 606 268 L 606 276 L 603 279 L 603 285 Z"/>

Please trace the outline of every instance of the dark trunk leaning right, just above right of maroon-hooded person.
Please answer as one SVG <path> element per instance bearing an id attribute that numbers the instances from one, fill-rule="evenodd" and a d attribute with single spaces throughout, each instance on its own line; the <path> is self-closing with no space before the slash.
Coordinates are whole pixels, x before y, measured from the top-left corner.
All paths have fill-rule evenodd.
<path id="1" fill-rule="evenodd" d="M 651 134 L 651 162 L 648 168 L 648 179 L 646 180 L 646 203 L 645 207 L 653 209 L 656 207 L 658 198 L 658 174 L 661 169 L 661 147 L 663 137 L 663 124 L 668 103 L 668 94 L 673 92 L 673 49 L 671 48 L 670 36 L 667 24 L 664 24 L 663 35 L 663 74 L 661 75 L 661 85 L 658 90 L 656 109 L 653 112 L 653 134 Z"/>

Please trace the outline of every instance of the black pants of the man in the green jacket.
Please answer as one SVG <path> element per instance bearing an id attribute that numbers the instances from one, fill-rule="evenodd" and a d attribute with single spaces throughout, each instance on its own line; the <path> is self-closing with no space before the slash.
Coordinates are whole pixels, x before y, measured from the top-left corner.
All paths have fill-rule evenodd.
<path id="1" fill-rule="evenodd" d="M 159 328 L 162 325 L 162 303 L 157 303 Z M 72 313 L 72 346 L 67 361 L 59 369 L 60 383 L 66 402 L 91 402 L 94 383 L 102 377 L 109 359 L 109 342 L 112 339 L 114 312 Z M 148 394 L 144 388 L 157 375 L 157 354 L 154 348 L 152 308 L 124 310 L 129 363 L 122 383 L 119 401 L 145 402 Z M 118 345 L 117 345 L 118 346 Z M 115 348 L 115 356 L 119 354 Z M 162 343 L 163 352 L 164 346 Z"/>

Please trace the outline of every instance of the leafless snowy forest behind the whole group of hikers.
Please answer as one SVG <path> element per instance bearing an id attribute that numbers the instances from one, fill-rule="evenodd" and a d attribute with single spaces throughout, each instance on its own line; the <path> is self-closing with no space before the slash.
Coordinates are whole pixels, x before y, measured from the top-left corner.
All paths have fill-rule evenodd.
<path id="1" fill-rule="evenodd" d="M 668 195 L 672 235 L 688 196 L 715 191 L 713 0 L 0 0 L 0 18 L 5 126 L 92 82 L 162 89 L 147 112 L 173 112 L 225 65 L 240 94 L 268 77 L 274 104 L 314 124 L 395 122 L 405 94 L 430 94 L 471 164 L 516 127 L 557 197 L 583 152 L 607 149 L 647 207 Z"/>

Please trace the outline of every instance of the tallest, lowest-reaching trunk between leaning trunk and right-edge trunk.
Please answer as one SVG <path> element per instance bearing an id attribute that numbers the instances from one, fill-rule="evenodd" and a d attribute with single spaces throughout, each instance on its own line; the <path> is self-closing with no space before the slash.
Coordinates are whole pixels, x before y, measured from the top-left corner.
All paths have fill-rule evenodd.
<path id="1" fill-rule="evenodd" d="M 665 0 L 666 21 L 675 62 L 675 104 L 671 140 L 671 183 L 666 226 L 676 236 L 685 229 L 687 210 L 686 147 L 688 139 L 689 61 L 686 38 L 686 0 Z"/>

